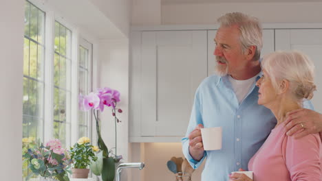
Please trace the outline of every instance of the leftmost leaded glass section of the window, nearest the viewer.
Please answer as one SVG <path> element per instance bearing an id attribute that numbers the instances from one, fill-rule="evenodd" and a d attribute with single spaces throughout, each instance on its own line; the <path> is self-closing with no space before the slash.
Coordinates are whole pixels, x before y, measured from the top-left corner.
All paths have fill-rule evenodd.
<path id="1" fill-rule="evenodd" d="M 43 140 L 45 12 L 25 2 L 23 46 L 23 151 Z M 28 175 L 27 163 L 23 175 Z"/>

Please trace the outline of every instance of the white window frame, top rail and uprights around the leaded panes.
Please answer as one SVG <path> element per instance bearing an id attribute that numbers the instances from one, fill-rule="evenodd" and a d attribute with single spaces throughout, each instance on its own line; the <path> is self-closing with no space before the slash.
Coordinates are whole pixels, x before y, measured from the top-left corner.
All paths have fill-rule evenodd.
<path id="1" fill-rule="evenodd" d="M 32 5 L 36 6 L 43 12 L 45 12 L 45 34 L 44 34 L 44 46 L 45 46 L 45 63 L 44 63 L 44 108 L 43 108 L 43 125 L 42 132 L 43 137 L 41 140 L 43 143 L 47 143 L 51 138 L 54 138 L 54 26 L 55 21 L 61 23 L 68 29 L 72 31 L 72 62 L 71 62 L 71 72 L 69 80 L 70 82 L 70 101 L 66 102 L 66 106 L 70 108 L 70 110 L 66 110 L 66 119 L 69 119 L 70 128 L 67 128 L 66 131 L 66 148 L 69 148 L 71 145 L 76 143 L 78 140 L 78 48 L 79 46 L 85 47 L 83 45 L 83 37 L 86 37 L 86 41 L 91 41 L 91 51 L 90 59 L 89 59 L 89 91 L 92 90 L 93 87 L 93 79 L 92 79 L 92 69 L 94 64 L 94 55 L 93 55 L 93 47 L 95 40 L 84 32 L 80 33 L 79 29 L 76 25 L 73 25 L 69 21 L 66 21 L 65 17 L 58 14 L 53 7 L 50 5 L 45 5 L 45 3 L 41 3 L 36 0 L 25 0 Z M 89 37 L 89 38 L 87 38 Z M 69 84 L 69 83 L 67 83 Z M 66 97 L 67 98 L 67 97 Z M 68 105 L 67 105 L 68 104 Z M 91 114 L 89 114 L 91 115 Z M 92 130 L 94 129 L 92 126 L 92 116 L 90 116 L 89 124 L 88 124 L 88 137 L 92 138 Z"/>

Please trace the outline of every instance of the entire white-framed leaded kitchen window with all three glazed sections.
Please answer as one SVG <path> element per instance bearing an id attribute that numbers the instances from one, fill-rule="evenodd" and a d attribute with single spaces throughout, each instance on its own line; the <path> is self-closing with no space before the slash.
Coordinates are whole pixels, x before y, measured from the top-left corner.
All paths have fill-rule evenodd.
<path id="1" fill-rule="evenodd" d="M 91 137 L 91 115 L 78 111 L 76 97 L 92 90 L 92 44 L 55 12 L 32 2 L 37 3 L 25 1 L 23 150 L 50 138 L 68 148 L 81 136 Z M 27 168 L 25 162 L 24 178 Z"/>

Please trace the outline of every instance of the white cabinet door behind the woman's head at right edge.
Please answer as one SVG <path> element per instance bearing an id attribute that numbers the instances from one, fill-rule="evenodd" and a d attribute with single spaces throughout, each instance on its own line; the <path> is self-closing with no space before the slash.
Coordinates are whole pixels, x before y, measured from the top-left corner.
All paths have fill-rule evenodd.
<path id="1" fill-rule="evenodd" d="M 317 90 L 312 99 L 314 109 L 322 112 L 322 29 L 277 29 L 275 30 L 275 49 L 297 49 L 308 55 L 315 65 L 315 84 Z"/>

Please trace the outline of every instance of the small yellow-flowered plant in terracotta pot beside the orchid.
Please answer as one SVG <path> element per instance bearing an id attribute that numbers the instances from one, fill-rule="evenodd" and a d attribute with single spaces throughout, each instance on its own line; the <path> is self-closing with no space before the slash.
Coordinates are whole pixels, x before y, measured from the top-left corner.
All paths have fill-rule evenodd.
<path id="1" fill-rule="evenodd" d="M 87 166 L 96 161 L 97 157 L 94 152 L 98 151 L 98 147 L 90 144 L 87 137 L 79 138 L 77 143 L 70 148 L 70 156 L 74 161 L 72 168 L 72 178 L 88 178 L 89 169 Z"/>

